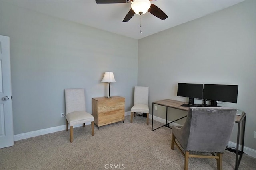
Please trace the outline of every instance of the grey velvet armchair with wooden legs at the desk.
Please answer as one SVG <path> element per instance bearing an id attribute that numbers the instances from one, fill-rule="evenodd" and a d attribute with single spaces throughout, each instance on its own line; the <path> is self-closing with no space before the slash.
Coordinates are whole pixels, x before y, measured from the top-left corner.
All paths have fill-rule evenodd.
<path id="1" fill-rule="evenodd" d="M 214 158 L 217 169 L 222 170 L 222 155 L 233 131 L 236 113 L 236 109 L 227 107 L 190 107 L 184 125 L 172 126 L 171 149 L 176 145 L 182 152 L 185 170 L 188 170 L 189 157 Z"/>

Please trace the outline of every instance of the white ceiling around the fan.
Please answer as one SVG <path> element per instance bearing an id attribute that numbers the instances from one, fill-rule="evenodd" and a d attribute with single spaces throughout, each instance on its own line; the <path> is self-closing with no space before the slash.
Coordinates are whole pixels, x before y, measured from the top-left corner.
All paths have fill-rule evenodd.
<path id="1" fill-rule="evenodd" d="M 130 3 L 96 4 L 95 0 L 28 0 L 10 3 L 50 16 L 74 21 L 134 39 L 141 39 L 165 29 L 206 16 L 243 0 L 156 0 L 152 4 L 163 10 L 168 18 L 160 20 L 149 12 L 135 14 L 122 22 Z M 140 29 L 142 33 L 140 33 Z"/>

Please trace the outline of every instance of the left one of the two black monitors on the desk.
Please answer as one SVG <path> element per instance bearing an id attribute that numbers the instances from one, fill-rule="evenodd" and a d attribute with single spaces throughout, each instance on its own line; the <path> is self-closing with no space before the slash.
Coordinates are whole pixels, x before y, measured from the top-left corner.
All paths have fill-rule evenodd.
<path id="1" fill-rule="evenodd" d="M 203 84 L 178 83 L 177 96 L 202 99 Z"/>

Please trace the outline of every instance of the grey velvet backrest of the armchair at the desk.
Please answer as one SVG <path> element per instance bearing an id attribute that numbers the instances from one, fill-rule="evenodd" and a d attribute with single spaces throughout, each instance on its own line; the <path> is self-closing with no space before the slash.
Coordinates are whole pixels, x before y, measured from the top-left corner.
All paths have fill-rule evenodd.
<path id="1" fill-rule="evenodd" d="M 184 124 L 190 132 L 188 144 L 183 146 L 188 151 L 223 153 L 234 127 L 236 112 L 236 109 L 224 107 L 190 108 Z"/>

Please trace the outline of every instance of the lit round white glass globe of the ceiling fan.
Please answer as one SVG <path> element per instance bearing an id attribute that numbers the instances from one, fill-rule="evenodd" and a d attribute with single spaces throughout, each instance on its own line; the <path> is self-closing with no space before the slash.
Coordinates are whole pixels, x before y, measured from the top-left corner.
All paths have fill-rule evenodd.
<path id="1" fill-rule="evenodd" d="M 138 15 L 145 14 L 150 6 L 149 0 L 134 0 L 131 5 L 132 10 Z"/>

